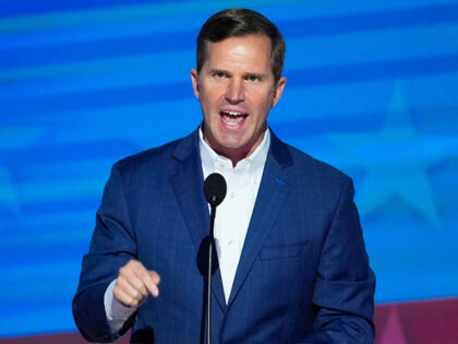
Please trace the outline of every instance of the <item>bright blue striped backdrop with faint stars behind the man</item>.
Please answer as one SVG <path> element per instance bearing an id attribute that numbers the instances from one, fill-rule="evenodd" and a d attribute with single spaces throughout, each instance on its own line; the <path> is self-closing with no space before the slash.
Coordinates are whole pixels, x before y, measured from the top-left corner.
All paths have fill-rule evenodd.
<path id="1" fill-rule="evenodd" d="M 0 0 L 0 336 L 75 330 L 110 167 L 198 126 L 195 38 L 228 7 L 284 33 L 270 127 L 353 177 L 376 301 L 458 295 L 457 1 Z"/>

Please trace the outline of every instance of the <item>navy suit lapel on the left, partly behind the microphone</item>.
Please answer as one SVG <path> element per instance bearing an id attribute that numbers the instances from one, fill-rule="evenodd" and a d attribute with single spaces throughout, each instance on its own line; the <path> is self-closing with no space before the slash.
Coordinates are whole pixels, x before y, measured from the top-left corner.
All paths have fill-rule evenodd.
<path id="1" fill-rule="evenodd" d="M 168 170 L 169 179 L 191 238 L 196 247 L 196 251 L 198 251 L 202 241 L 209 233 L 209 212 L 203 192 L 204 177 L 198 151 L 197 130 L 179 142 L 173 152 L 173 158 Z M 205 269 L 207 269 L 207 265 L 205 265 Z M 212 289 L 221 310 L 226 311 L 219 269 L 213 275 Z"/>

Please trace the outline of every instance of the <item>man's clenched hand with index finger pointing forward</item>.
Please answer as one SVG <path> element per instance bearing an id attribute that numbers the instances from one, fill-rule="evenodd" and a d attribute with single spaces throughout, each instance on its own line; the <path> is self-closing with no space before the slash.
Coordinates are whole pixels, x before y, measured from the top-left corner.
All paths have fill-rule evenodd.
<path id="1" fill-rule="evenodd" d="M 113 295 L 126 307 L 137 307 L 149 294 L 159 295 L 160 276 L 137 260 L 131 260 L 119 270 Z"/>

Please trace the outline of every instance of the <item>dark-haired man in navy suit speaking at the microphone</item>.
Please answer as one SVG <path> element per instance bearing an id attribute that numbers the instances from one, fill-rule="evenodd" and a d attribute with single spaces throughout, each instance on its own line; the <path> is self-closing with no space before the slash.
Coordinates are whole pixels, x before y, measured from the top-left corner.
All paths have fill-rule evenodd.
<path id="1" fill-rule="evenodd" d="M 351 179 L 267 127 L 285 43 L 257 12 L 213 15 L 191 71 L 202 126 L 117 163 L 73 300 L 88 341 L 205 342 L 202 185 L 222 174 L 214 343 L 372 343 L 375 277 Z M 173 110 L 171 109 L 171 112 Z M 177 118 L 179 120 L 179 118 Z"/>

